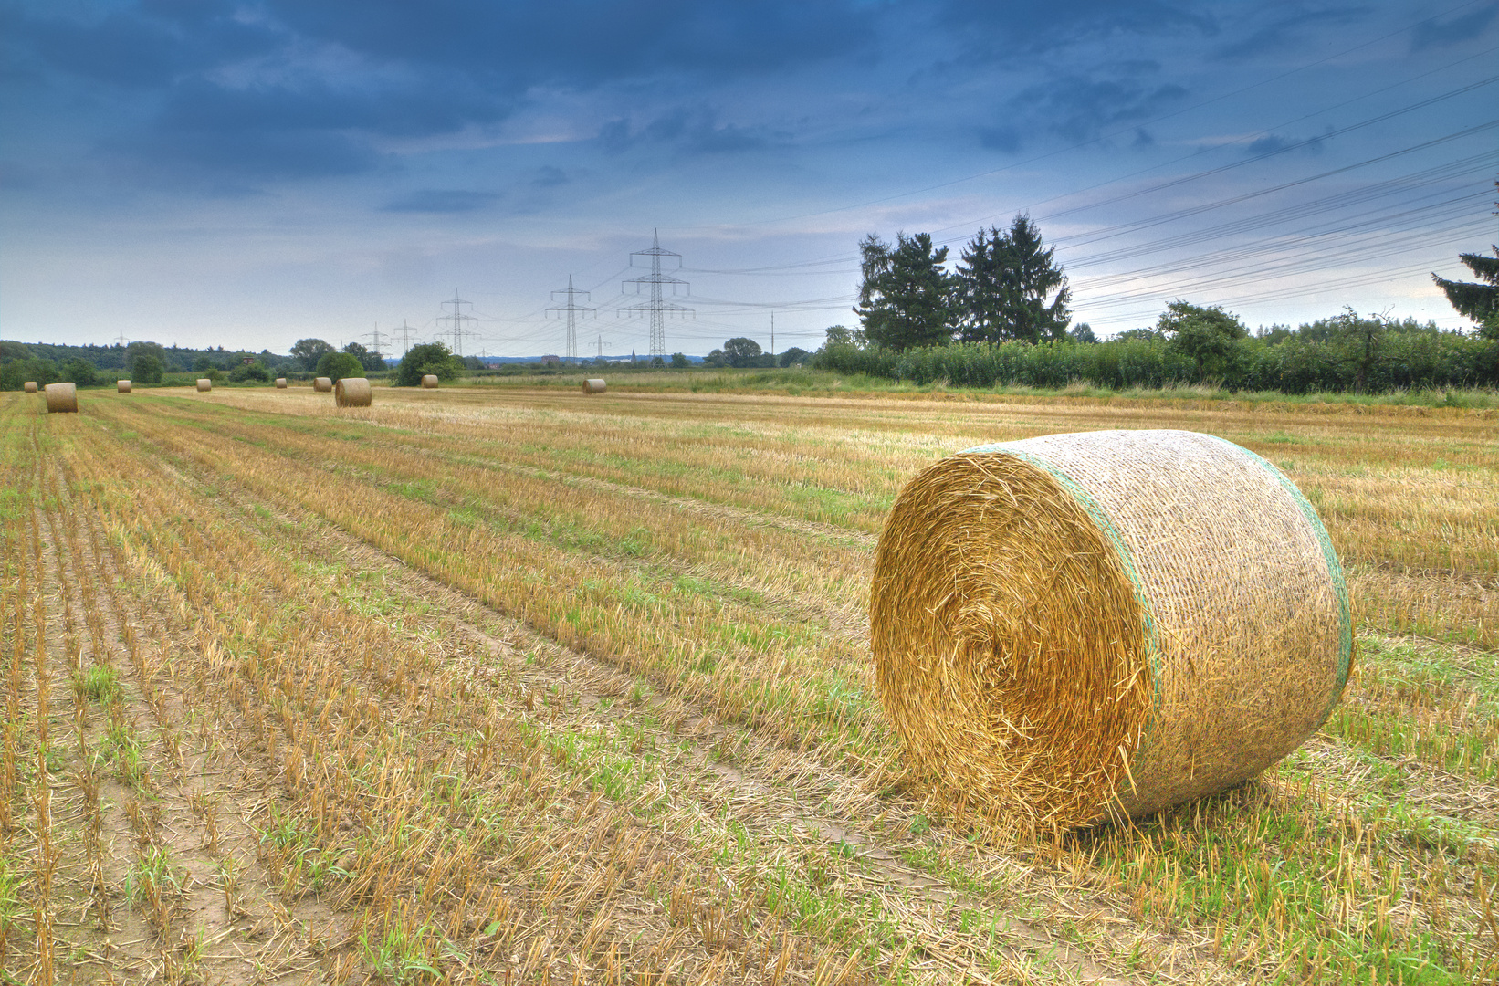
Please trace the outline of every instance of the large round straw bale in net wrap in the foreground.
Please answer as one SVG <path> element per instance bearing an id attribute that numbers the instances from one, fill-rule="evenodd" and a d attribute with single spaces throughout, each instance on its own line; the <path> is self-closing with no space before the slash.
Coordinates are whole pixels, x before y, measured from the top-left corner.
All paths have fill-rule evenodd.
<path id="1" fill-rule="evenodd" d="M 1348 682 L 1343 571 L 1306 497 L 1193 432 L 983 445 L 907 484 L 875 553 L 880 698 L 958 806 L 1147 815 L 1301 745 Z"/>

